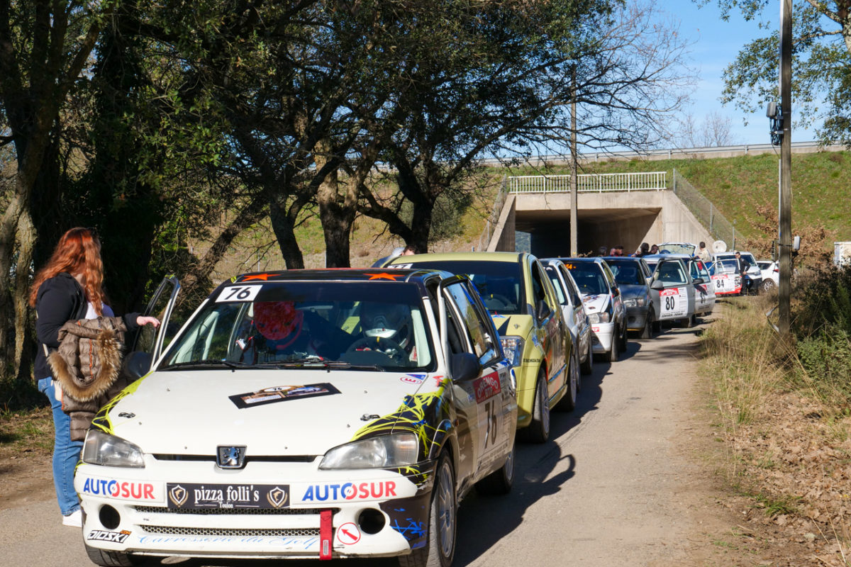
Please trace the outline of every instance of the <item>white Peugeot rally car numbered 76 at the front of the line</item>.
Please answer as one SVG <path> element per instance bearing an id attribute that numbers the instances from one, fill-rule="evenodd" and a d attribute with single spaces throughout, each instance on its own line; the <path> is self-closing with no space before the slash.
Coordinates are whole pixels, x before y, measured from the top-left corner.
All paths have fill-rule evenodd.
<path id="1" fill-rule="evenodd" d="M 516 384 L 469 280 L 391 271 L 241 275 L 131 354 L 74 480 L 89 558 L 450 564 L 460 499 L 511 489 Z"/>

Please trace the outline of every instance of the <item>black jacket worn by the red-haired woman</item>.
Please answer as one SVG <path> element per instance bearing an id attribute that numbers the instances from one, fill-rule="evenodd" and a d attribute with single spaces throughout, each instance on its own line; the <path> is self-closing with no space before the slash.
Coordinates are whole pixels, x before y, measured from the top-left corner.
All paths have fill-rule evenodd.
<path id="1" fill-rule="evenodd" d="M 88 309 L 89 302 L 86 301 L 83 286 L 80 286 L 71 274 L 62 272 L 42 282 L 36 295 L 38 349 L 35 374 L 37 380 L 53 376 L 44 354 L 44 345 L 47 345 L 50 351 L 58 349 L 60 327 L 69 320 L 83 319 Z M 139 328 L 136 324 L 138 316 L 138 313 L 123 316 L 128 331 Z"/>

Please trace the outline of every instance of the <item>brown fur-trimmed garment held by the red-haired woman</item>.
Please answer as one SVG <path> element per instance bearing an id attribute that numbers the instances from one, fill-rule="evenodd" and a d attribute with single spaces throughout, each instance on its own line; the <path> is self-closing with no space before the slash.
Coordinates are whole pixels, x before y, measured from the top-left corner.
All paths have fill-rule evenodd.
<path id="1" fill-rule="evenodd" d="M 71 416 L 71 440 L 83 440 L 94 414 L 129 383 L 119 379 L 124 332 L 121 317 L 71 320 L 60 328 L 48 364 L 62 388 L 62 411 Z"/>

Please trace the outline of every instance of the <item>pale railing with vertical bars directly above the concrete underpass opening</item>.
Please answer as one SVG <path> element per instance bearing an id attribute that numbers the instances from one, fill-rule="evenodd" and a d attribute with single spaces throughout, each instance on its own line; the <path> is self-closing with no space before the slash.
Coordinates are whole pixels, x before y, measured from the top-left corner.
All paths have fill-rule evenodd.
<path id="1" fill-rule="evenodd" d="M 576 176 L 580 193 L 660 191 L 668 188 L 667 172 L 582 173 Z M 567 193 L 569 175 L 515 175 L 507 179 L 509 193 Z"/>

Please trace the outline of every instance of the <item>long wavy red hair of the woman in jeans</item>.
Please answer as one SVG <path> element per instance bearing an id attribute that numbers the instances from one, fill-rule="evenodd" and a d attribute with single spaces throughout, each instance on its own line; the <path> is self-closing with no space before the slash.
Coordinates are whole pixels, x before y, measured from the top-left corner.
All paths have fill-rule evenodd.
<path id="1" fill-rule="evenodd" d="M 77 227 L 62 235 L 48 264 L 38 270 L 36 279 L 32 282 L 31 307 L 36 306 L 38 288 L 44 281 L 62 272 L 85 275 L 83 291 L 86 293 L 86 299 L 94 305 L 98 315 L 103 315 L 104 264 L 100 259 L 100 239 L 94 229 Z"/>

